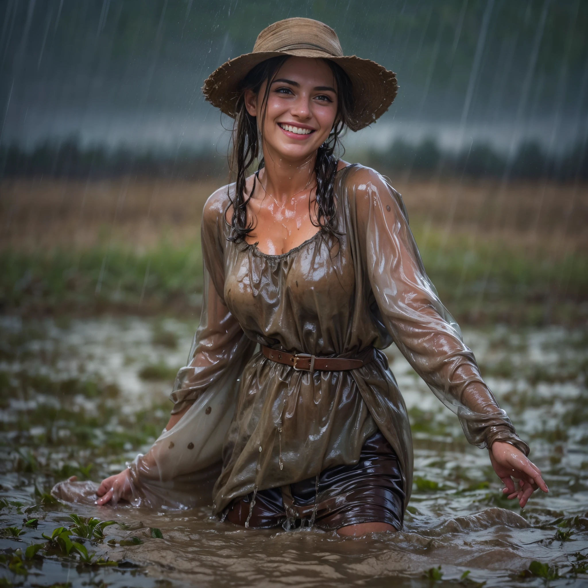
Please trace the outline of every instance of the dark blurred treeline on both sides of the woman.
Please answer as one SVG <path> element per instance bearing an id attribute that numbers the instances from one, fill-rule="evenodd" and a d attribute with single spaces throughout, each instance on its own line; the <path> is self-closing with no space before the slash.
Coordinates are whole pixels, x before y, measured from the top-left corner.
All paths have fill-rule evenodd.
<path id="1" fill-rule="evenodd" d="M 547 153 L 536 142 L 523 142 L 512 155 L 485 143 L 453 152 L 433 139 L 415 145 L 397 139 L 386 151 L 355 154 L 356 159 L 382 172 L 416 175 L 473 176 L 477 178 L 588 180 L 588 149 L 578 143 L 567 151 Z M 18 145 L 0 148 L 0 178 L 52 176 L 104 178 L 142 175 L 178 179 L 226 176 L 226 156 L 183 149 L 172 152 L 139 152 L 128 148 L 109 150 L 83 147 L 75 139 L 45 142 L 26 150 Z"/>

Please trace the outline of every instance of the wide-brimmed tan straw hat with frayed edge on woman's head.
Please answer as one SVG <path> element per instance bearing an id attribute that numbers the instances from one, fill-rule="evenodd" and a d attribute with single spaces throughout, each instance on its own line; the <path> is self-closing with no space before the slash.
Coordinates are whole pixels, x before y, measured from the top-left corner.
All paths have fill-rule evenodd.
<path id="1" fill-rule="evenodd" d="M 287 18 L 260 32 L 252 53 L 229 59 L 204 82 L 206 100 L 235 118 L 243 78 L 270 57 L 292 55 L 330 59 L 349 76 L 353 109 L 349 128 L 359 131 L 383 115 L 396 98 L 396 75 L 382 65 L 355 55 L 343 55 L 339 38 L 330 26 L 310 18 Z"/>

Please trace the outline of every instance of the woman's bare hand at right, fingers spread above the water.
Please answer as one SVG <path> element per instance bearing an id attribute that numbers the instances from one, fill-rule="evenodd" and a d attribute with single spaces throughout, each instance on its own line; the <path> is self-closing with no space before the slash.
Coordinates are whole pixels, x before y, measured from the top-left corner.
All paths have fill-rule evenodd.
<path id="1" fill-rule="evenodd" d="M 549 492 L 541 477 L 541 470 L 514 445 L 495 441 L 488 453 L 496 475 L 505 483 L 506 488 L 502 492 L 508 495 L 509 499 L 517 498 L 521 508 L 538 487 L 543 492 Z M 516 489 L 513 477 L 520 480 L 519 490 Z"/>

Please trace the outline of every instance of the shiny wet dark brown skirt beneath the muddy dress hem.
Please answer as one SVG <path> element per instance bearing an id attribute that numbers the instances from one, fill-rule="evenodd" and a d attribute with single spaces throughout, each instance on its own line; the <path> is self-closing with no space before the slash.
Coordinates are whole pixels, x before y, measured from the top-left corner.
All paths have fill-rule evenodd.
<path id="1" fill-rule="evenodd" d="M 319 502 L 315 504 L 315 497 Z M 316 477 L 233 500 L 223 518 L 233 524 L 286 529 L 315 524 L 340 529 L 350 524 L 388 523 L 400 530 L 405 493 L 396 452 L 377 431 L 363 444 L 359 462 L 329 467 Z M 253 507 L 251 502 L 253 500 Z"/>

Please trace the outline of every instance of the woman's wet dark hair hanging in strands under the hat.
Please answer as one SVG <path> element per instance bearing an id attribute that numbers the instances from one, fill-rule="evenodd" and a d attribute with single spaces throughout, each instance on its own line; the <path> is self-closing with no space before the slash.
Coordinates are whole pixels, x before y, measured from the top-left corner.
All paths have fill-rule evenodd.
<path id="1" fill-rule="evenodd" d="M 272 57 L 256 65 L 246 75 L 240 88 L 240 96 L 236 106 L 237 116 L 233 125 L 233 150 L 229 160 L 232 175 L 236 168 L 235 195 L 231 198 L 229 192 L 229 199 L 233 206 L 231 240 L 245 239 L 245 236 L 253 230 L 252 223 L 247 224 L 247 201 L 243 198 L 245 194 L 246 174 L 261 152 L 259 129 L 263 129 L 263 123 L 265 122 L 271 82 L 287 59 L 288 56 Z M 349 113 L 352 112 L 353 95 L 351 81 L 345 71 L 329 59 L 325 59 L 324 61 L 329 65 L 335 78 L 338 108 L 333 128 L 316 154 L 316 223 L 312 220 L 312 215 L 310 215 L 310 218 L 313 225 L 321 227 L 330 235 L 336 236 L 338 232 L 335 227 L 335 197 L 333 195 L 333 187 L 335 186 L 338 158 L 335 156 L 335 150 L 337 149 L 338 153 L 342 150 L 339 136 L 347 125 Z M 261 101 L 262 118 L 258 129 L 257 117 L 251 116 L 245 108 L 245 91 L 250 89 L 255 93 L 259 93 L 263 82 L 266 81 L 268 83 Z M 261 159 L 258 165 L 258 172 L 263 166 L 264 162 Z M 253 190 L 255 190 L 255 178 L 251 193 L 253 193 Z"/>

